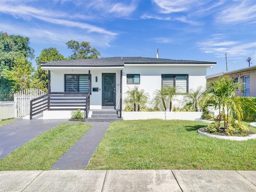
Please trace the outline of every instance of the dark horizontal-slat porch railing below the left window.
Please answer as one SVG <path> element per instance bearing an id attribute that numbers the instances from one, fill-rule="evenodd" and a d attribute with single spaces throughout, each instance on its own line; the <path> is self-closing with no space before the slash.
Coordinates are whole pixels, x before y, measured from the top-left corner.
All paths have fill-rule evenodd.
<path id="1" fill-rule="evenodd" d="M 30 101 L 30 119 L 44 110 L 84 110 L 86 118 L 90 110 L 90 94 L 87 92 L 50 92 Z"/>

